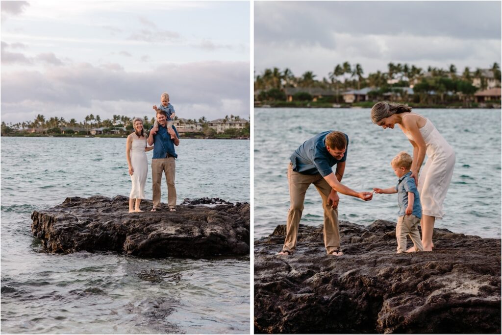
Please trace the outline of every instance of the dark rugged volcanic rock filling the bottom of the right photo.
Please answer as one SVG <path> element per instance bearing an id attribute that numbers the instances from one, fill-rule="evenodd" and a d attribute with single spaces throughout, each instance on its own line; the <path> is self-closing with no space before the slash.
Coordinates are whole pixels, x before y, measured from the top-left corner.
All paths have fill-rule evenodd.
<path id="1" fill-rule="evenodd" d="M 255 241 L 255 332 L 500 333 L 500 239 L 435 229 L 433 252 L 397 255 L 395 225 L 340 222 L 343 256 L 322 226 L 292 256 L 285 226 Z"/>

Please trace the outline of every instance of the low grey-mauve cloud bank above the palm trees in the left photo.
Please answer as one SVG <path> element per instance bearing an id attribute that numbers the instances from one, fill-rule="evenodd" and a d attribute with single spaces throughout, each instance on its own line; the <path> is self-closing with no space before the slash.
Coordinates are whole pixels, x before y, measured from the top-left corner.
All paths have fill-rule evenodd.
<path id="1" fill-rule="evenodd" d="M 2 117 L 12 122 L 36 114 L 65 118 L 71 114 L 77 120 L 91 112 L 102 119 L 113 114 L 150 115 L 162 92 L 170 94 L 179 117 L 249 115 L 247 62 L 163 64 L 143 73 L 127 72 L 113 64 L 80 63 L 44 72 L 3 72 L 1 81 Z M 33 104 L 25 103 L 27 97 Z"/>

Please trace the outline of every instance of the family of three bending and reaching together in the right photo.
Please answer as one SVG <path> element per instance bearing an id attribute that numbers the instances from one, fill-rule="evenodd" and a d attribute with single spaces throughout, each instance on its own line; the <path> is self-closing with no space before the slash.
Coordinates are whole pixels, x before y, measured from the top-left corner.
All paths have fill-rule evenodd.
<path id="1" fill-rule="evenodd" d="M 414 243 L 408 252 L 432 251 L 434 222 L 444 215 L 443 202 L 453 175 L 455 152 L 431 121 L 412 113 L 408 106 L 378 102 L 371 108 L 371 120 L 384 129 L 392 129 L 398 124 L 413 145 L 413 158 L 406 152 L 400 152 L 392 160 L 392 168 L 399 178 L 398 185 L 388 189 L 373 189 L 374 193 L 398 193 L 398 253 L 406 251 L 407 235 Z M 372 199 L 372 193 L 356 192 L 340 183 L 345 170 L 347 148 L 346 134 L 326 131 L 305 141 L 291 155 L 288 169 L 291 207 L 286 240 L 280 255 L 292 255 L 296 249 L 303 202 L 310 184 L 314 184 L 322 198 L 326 251 L 328 255 L 343 255 L 338 229 L 337 192 L 364 201 Z M 427 162 L 420 171 L 426 154 Z M 335 164 L 336 171 L 333 173 L 331 167 Z M 418 231 L 419 223 L 422 239 Z"/>

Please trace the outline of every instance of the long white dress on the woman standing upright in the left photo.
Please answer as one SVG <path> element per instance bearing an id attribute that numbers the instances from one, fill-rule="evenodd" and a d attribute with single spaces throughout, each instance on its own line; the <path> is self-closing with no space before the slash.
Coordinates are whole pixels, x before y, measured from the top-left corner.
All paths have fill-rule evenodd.
<path id="1" fill-rule="evenodd" d="M 133 188 L 129 198 L 145 199 L 145 183 L 147 181 L 148 173 L 148 160 L 145 146 L 147 145 L 146 139 L 134 139 L 131 146 L 131 163 L 133 164 Z"/>

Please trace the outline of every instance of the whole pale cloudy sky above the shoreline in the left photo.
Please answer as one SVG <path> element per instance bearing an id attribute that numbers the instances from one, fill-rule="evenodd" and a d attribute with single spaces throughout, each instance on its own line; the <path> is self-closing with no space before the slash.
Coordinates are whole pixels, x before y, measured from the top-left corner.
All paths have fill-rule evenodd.
<path id="1" fill-rule="evenodd" d="M 249 119 L 250 3 L 2 1 L 1 118 Z"/>

